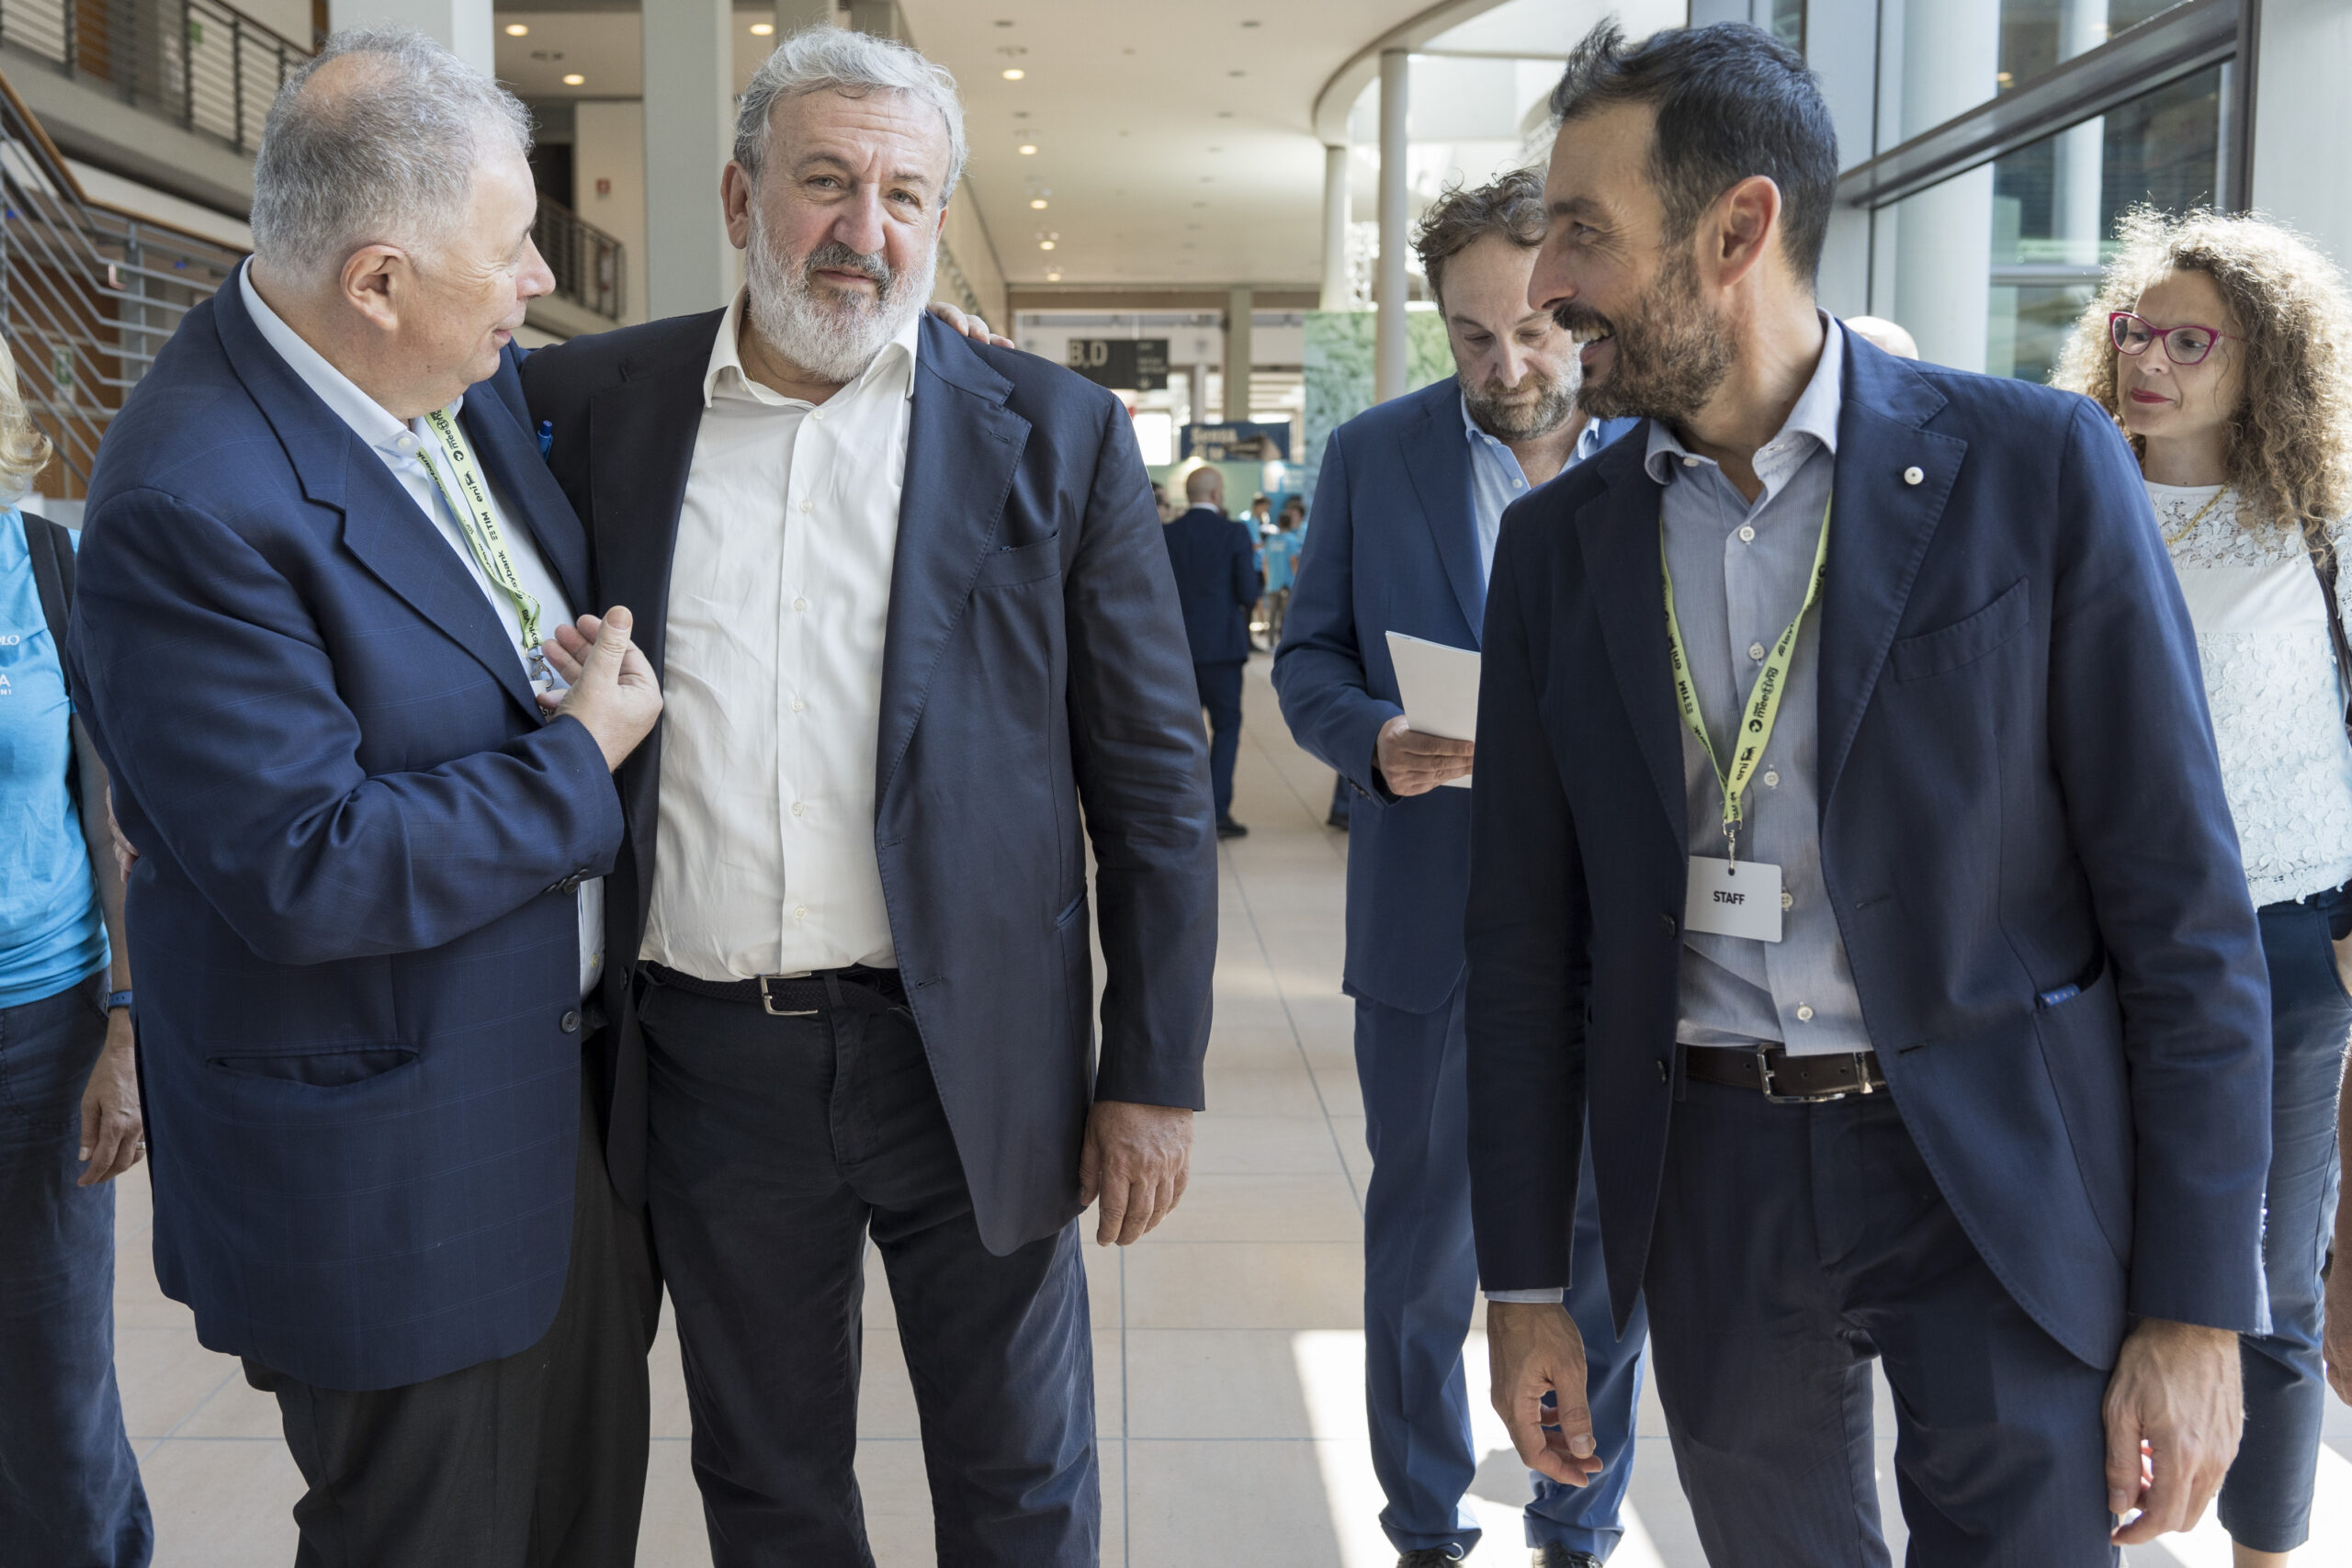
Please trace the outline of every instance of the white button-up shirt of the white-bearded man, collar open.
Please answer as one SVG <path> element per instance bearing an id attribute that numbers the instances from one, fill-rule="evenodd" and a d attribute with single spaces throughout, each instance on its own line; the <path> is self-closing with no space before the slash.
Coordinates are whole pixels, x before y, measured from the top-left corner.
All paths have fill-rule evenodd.
<path id="1" fill-rule="evenodd" d="M 703 980 L 896 966 L 875 745 L 920 317 L 821 407 L 710 346 L 663 639 L 640 957 Z"/>

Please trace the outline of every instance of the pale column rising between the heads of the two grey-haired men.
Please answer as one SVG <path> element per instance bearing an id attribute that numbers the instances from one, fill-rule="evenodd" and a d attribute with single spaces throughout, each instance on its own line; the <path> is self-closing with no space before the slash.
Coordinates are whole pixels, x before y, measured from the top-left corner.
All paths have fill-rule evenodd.
<path id="1" fill-rule="evenodd" d="M 724 306 L 736 252 L 720 212 L 734 150 L 734 12 L 729 0 L 644 7 L 644 310 Z"/>

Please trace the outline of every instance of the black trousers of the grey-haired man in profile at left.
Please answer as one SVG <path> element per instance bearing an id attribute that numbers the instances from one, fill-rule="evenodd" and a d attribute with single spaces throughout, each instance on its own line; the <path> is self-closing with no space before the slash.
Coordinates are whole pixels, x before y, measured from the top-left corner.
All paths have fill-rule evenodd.
<path id="1" fill-rule="evenodd" d="M 644 1218 L 614 1197 L 583 1091 L 572 1267 L 539 1345 L 397 1389 L 296 1382 L 254 1359 L 308 1483 L 296 1568 L 630 1568 L 661 1319 Z"/>

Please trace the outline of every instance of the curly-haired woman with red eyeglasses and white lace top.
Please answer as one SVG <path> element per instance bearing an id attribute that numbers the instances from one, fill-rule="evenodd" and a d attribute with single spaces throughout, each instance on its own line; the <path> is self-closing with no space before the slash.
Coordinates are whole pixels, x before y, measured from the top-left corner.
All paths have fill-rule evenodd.
<path id="1" fill-rule="evenodd" d="M 2310 1535 L 2321 1378 L 2352 1401 L 2352 1227 L 2336 1225 L 2352 994 L 2352 299 L 2258 219 L 2136 212 L 2053 376 L 2114 414 L 2180 576 L 2270 959 L 2267 1335 L 2220 1493 L 2237 1568 Z M 2352 1220 L 2352 1215 L 2345 1215 Z M 2321 1284 L 2333 1234 L 2333 1281 Z"/>

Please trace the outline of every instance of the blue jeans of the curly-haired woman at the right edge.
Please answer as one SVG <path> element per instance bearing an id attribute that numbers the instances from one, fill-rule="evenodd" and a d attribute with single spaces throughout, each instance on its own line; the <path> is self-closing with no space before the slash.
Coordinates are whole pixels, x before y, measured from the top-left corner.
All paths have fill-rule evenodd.
<path id="1" fill-rule="evenodd" d="M 2270 1185 L 2263 1274 L 2270 1333 L 2239 1340 L 2246 1436 L 2220 1488 L 2220 1521 L 2256 1552 L 2293 1552 L 2312 1533 L 2312 1481 L 2328 1385 L 2319 1356 L 2319 1265 L 2336 1229 L 2336 1091 L 2352 997 L 2336 978 L 2331 922 L 2343 891 L 2263 905 L 2270 959 Z M 2343 1258 L 2336 1267 L 2352 1267 Z"/>

